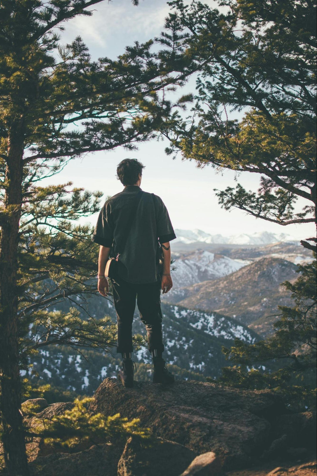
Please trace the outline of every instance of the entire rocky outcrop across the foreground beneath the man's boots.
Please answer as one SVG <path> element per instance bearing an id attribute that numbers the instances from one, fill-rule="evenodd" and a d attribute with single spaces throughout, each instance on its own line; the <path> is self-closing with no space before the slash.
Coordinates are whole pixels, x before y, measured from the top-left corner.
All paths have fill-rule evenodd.
<path id="1" fill-rule="evenodd" d="M 25 417 L 29 426 L 74 405 L 47 405 L 44 399 L 29 403 L 39 406 L 35 417 Z M 25 402 L 22 409 L 27 407 Z M 316 414 L 292 414 L 271 391 L 195 380 L 172 386 L 134 382 L 134 388 L 125 388 L 106 378 L 89 410 L 139 418 L 140 426 L 151 428 L 152 438 L 134 435 L 120 443 L 100 441 L 93 446 L 87 442 L 76 453 L 54 454 L 35 438 L 28 443 L 33 476 L 311 476 L 316 467 L 309 462 Z M 243 469 L 255 466 L 259 471 Z"/>

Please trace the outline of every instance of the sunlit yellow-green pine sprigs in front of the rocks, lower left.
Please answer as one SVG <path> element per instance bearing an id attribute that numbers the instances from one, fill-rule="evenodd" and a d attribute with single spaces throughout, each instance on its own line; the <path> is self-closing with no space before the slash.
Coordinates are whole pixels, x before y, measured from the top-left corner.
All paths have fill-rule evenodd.
<path id="1" fill-rule="evenodd" d="M 93 413 L 89 410 L 92 401 L 92 397 L 76 398 L 74 407 L 62 415 L 54 415 L 50 419 L 38 418 L 38 425 L 32 424 L 27 431 L 28 436 L 41 436 L 45 444 L 70 452 L 76 452 L 83 444 L 117 443 L 132 435 L 140 437 L 144 443 L 149 440 L 151 444 L 150 429 L 141 428 L 139 418 L 128 421 L 119 413 L 113 416 Z M 29 417 L 36 418 L 36 410 L 34 405 L 24 407 L 24 413 Z"/>

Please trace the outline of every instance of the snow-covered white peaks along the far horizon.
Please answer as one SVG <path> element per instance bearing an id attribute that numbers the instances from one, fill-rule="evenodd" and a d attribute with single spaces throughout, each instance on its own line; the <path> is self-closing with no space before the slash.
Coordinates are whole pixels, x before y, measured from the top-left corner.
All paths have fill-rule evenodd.
<path id="1" fill-rule="evenodd" d="M 205 231 L 195 230 L 181 230 L 175 229 L 176 239 L 173 243 L 190 244 L 200 241 L 202 243 L 214 243 L 214 244 L 231 244 L 231 245 L 269 245 L 272 243 L 287 242 L 297 243 L 299 245 L 299 239 L 291 237 L 286 233 L 270 233 L 268 231 L 261 231 L 258 233 L 252 233 L 248 235 L 241 233 L 239 235 L 231 235 L 224 237 L 223 235 L 211 235 Z"/>

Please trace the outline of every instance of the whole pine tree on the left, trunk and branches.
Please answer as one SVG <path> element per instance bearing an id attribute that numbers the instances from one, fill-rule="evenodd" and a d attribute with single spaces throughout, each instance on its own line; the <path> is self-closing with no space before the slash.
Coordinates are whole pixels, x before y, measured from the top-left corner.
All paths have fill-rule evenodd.
<path id="1" fill-rule="evenodd" d="M 80 36 L 62 45 L 57 31 L 99 1 L 0 1 L 0 412 L 10 475 L 29 474 L 20 360 L 46 339 L 106 348 L 113 338 L 106 319 L 49 309 L 92 292 L 92 230 L 71 221 L 96 212 L 102 193 L 38 182 L 84 153 L 132 150 L 153 137 L 171 109 L 158 91 L 182 85 L 191 70 L 177 32 L 170 49 L 135 42 L 117 60 L 92 60 Z"/>

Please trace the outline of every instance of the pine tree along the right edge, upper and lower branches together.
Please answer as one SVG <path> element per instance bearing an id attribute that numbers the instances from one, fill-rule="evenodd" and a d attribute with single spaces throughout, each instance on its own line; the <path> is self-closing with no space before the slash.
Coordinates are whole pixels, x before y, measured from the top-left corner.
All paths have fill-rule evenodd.
<path id="1" fill-rule="evenodd" d="M 191 116 L 174 112 L 161 129 L 166 152 L 181 151 L 199 167 L 258 174 L 257 193 L 239 183 L 215 190 L 225 210 L 282 226 L 316 224 L 316 0 L 223 0 L 220 10 L 169 4 L 175 10 L 166 25 L 178 22 L 202 70 Z M 306 200 L 300 211 L 298 198 Z M 316 236 L 301 244 L 316 252 Z M 295 305 L 279 307 L 275 336 L 224 349 L 238 365 L 225 368 L 222 380 L 280 388 L 303 408 L 316 387 L 316 260 L 299 271 L 295 283 L 283 283 Z M 264 361 L 278 370 L 252 368 Z"/>

